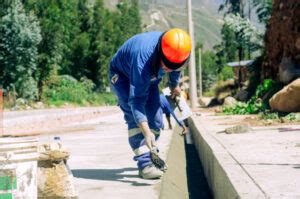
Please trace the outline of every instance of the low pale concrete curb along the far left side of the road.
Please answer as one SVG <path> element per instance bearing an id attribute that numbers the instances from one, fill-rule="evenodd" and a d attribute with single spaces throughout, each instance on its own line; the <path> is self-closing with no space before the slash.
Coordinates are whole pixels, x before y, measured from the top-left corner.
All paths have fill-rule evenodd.
<path id="1" fill-rule="evenodd" d="M 63 126 L 112 114 L 116 109 L 112 106 L 4 112 L 3 133 L 5 136 L 49 133 Z"/>

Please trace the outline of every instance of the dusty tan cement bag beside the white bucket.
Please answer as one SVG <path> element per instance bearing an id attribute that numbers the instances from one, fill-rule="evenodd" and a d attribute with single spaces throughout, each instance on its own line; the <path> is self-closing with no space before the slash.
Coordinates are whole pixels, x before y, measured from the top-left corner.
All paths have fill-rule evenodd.
<path id="1" fill-rule="evenodd" d="M 69 153 L 47 146 L 45 149 L 40 151 L 38 161 L 38 198 L 77 198 L 73 175 L 66 164 Z"/>

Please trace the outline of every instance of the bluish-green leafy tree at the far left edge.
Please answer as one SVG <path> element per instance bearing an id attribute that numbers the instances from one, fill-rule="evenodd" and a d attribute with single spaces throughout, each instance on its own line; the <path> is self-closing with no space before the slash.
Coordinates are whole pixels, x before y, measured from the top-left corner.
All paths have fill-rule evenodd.
<path id="1" fill-rule="evenodd" d="M 19 0 L 13 0 L 0 21 L 0 68 L 3 87 L 14 86 L 19 97 L 35 99 L 37 46 L 40 26 L 33 13 L 27 14 Z"/>

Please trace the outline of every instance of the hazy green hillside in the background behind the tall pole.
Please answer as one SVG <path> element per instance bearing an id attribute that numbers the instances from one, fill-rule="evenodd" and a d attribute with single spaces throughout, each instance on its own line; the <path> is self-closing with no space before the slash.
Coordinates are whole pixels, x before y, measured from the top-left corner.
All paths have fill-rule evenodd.
<path id="1" fill-rule="evenodd" d="M 219 1 L 193 1 L 195 42 L 211 49 L 221 41 L 222 16 L 217 12 Z M 144 31 L 166 30 L 171 27 L 187 29 L 186 0 L 141 0 L 140 13 Z"/>

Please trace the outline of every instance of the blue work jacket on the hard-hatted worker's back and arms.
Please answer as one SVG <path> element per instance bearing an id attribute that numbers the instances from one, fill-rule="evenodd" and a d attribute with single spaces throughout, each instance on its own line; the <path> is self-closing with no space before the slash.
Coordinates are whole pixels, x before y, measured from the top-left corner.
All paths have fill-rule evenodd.
<path id="1" fill-rule="evenodd" d="M 127 40 L 113 56 L 110 70 L 121 73 L 129 80 L 128 104 L 137 124 L 147 121 L 145 105 L 149 86 L 161 77 L 160 39 L 162 32 L 146 32 Z M 179 84 L 180 72 L 169 73 L 169 86 Z"/>

